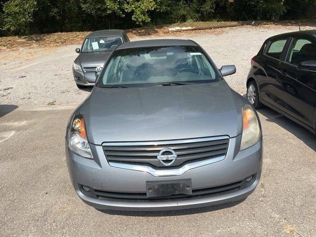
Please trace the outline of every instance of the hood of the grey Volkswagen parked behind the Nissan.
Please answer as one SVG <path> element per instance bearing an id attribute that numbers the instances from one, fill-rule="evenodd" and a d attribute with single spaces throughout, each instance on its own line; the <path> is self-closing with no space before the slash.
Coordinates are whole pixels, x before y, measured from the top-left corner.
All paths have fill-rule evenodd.
<path id="1" fill-rule="evenodd" d="M 77 60 L 79 60 L 82 67 L 86 66 L 102 66 L 110 56 L 111 51 L 96 52 L 96 53 L 80 53 Z M 76 62 L 76 61 L 75 61 Z"/>

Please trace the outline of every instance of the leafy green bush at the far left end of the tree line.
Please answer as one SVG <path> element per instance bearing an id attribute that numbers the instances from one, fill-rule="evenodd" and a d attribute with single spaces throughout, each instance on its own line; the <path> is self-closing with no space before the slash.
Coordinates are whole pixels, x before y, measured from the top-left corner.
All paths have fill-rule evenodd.
<path id="1" fill-rule="evenodd" d="M 30 33 L 36 9 L 35 0 L 9 0 L 5 2 L 3 4 L 2 30 L 13 34 Z"/>

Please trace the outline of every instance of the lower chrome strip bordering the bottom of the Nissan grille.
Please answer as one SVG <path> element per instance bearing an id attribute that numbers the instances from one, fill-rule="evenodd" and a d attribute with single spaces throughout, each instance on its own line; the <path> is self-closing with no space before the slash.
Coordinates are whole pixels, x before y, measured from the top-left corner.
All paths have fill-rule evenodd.
<path id="1" fill-rule="evenodd" d="M 110 166 L 116 167 L 116 168 L 147 172 L 155 177 L 165 177 L 165 176 L 183 175 L 185 172 L 187 172 L 190 169 L 201 167 L 201 166 L 204 166 L 207 164 L 212 164 L 212 163 L 221 161 L 223 159 L 225 159 L 225 156 L 205 159 L 205 160 L 185 164 L 184 166 L 177 168 L 177 169 L 154 169 L 154 168 L 152 168 L 150 166 L 146 166 L 146 165 L 125 164 L 125 163 L 115 163 L 115 162 L 109 162 L 109 164 L 110 164 Z"/>

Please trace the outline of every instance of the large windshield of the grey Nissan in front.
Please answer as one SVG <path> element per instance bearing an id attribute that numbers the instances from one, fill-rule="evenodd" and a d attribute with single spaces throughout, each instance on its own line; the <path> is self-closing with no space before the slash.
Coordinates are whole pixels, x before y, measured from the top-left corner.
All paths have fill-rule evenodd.
<path id="1" fill-rule="evenodd" d="M 211 63 L 197 46 L 163 46 L 116 50 L 99 86 L 151 86 L 172 82 L 218 81 Z"/>

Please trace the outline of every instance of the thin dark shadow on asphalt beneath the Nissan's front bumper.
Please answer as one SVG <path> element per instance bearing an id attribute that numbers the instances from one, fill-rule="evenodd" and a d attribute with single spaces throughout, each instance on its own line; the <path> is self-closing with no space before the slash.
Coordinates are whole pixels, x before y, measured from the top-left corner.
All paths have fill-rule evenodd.
<path id="1" fill-rule="evenodd" d="M 219 205 L 207 206 L 207 207 L 200 207 L 200 208 L 191 208 L 185 210 L 171 210 L 171 211 L 117 211 L 117 210 L 100 210 L 105 214 L 109 215 L 119 215 L 119 216 L 142 216 L 142 217 L 151 217 L 151 216 L 183 216 L 183 215 L 191 215 L 191 214 L 198 214 L 210 211 L 217 211 L 229 207 L 234 207 L 239 203 L 243 202 L 246 198 L 240 199 L 234 202 L 228 202 Z M 233 211 L 234 212 L 234 211 Z"/>

